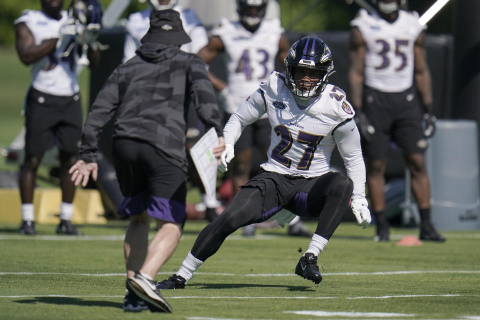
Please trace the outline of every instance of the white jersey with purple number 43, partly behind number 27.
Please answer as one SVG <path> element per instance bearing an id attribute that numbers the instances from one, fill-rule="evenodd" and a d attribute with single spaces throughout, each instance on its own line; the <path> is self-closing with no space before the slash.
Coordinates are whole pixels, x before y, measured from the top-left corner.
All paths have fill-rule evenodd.
<path id="1" fill-rule="evenodd" d="M 240 103 L 265 81 L 275 68 L 278 43 L 283 33 L 278 18 L 263 19 L 255 32 L 239 21 L 220 20 L 211 30 L 223 42 L 227 54 L 228 95 L 225 111 L 233 113 Z"/>

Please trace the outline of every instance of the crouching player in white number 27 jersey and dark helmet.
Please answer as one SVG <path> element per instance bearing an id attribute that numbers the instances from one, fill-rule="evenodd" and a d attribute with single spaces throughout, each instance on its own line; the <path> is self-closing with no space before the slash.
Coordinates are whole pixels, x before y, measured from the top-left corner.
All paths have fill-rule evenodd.
<path id="1" fill-rule="evenodd" d="M 330 49 L 319 38 L 303 37 L 291 46 L 285 66 L 286 74 L 273 71 L 230 116 L 223 129 L 225 150 L 219 169 L 227 169 L 242 130 L 263 114 L 271 130 L 268 160 L 235 194 L 225 211 L 199 233 L 181 267 L 158 282 L 159 289 L 184 287 L 229 234 L 241 226 L 277 218 L 276 213 L 285 213 L 282 209 L 318 219 L 295 273 L 319 283 L 318 254 L 340 223 L 350 199 L 358 223 L 363 227 L 370 223 L 354 111 L 345 92 L 327 83 L 333 72 Z M 335 146 L 348 177 L 330 171 Z"/>

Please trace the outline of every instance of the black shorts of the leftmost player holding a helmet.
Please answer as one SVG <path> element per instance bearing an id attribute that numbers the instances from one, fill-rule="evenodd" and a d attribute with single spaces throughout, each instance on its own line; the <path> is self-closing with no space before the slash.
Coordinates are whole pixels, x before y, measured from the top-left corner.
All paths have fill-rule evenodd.
<path id="1" fill-rule="evenodd" d="M 30 87 L 25 101 L 25 129 L 27 154 L 43 153 L 54 144 L 76 154 L 82 129 L 80 93 L 58 96 Z"/>

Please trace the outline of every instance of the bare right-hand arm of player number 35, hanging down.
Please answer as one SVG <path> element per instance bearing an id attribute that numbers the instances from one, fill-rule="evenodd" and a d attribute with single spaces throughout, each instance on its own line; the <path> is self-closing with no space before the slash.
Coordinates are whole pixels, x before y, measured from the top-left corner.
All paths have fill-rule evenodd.
<path id="1" fill-rule="evenodd" d="M 431 75 L 426 61 L 425 49 L 425 31 L 421 32 L 415 41 L 414 51 L 414 69 L 413 76 L 415 85 L 420 95 L 421 102 L 426 108 L 425 111 L 431 113 L 433 95 L 431 89 Z"/>

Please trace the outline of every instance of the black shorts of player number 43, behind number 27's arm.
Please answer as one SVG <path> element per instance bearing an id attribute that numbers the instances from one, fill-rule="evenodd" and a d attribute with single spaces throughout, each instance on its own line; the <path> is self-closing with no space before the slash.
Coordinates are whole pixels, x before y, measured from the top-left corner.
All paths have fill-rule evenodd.
<path id="1" fill-rule="evenodd" d="M 235 143 L 235 152 L 250 149 L 253 146 L 257 146 L 260 150 L 267 149 L 270 146 L 270 133 L 271 126 L 268 118 L 256 120 L 252 124 L 247 125 L 241 132 Z"/>

